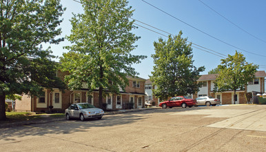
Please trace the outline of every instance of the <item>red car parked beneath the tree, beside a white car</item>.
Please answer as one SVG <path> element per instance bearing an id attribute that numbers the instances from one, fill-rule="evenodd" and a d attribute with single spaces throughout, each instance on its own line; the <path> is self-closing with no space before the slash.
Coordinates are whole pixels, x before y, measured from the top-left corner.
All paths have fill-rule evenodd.
<path id="1" fill-rule="evenodd" d="M 194 105 L 196 105 L 196 99 L 190 99 L 189 97 L 185 97 L 185 96 L 177 96 L 177 97 L 172 97 L 170 100 L 165 101 L 165 102 L 161 102 L 159 104 L 159 106 L 161 106 L 162 108 L 172 108 L 175 106 L 182 106 L 182 108 L 186 108 L 188 107 L 192 107 Z"/>

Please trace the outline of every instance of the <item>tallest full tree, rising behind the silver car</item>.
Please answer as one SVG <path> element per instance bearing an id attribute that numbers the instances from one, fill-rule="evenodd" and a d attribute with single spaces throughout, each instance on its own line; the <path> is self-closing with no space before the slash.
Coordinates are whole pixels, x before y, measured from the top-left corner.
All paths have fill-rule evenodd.
<path id="1" fill-rule="evenodd" d="M 61 57 L 62 70 L 69 88 L 80 89 L 83 84 L 89 92 L 99 88 L 99 106 L 105 93 L 119 94 L 119 86 L 128 84 L 127 75 L 136 75 L 132 64 L 145 59 L 131 55 L 139 39 L 132 32 L 134 21 L 131 7 L 125 0 L 81 0 L 84 14 L 74 15 L 72 34 L 67 37 L 73 44 L 70 52 Z M 112 83 L 110 83 L 112 82 Z"/>

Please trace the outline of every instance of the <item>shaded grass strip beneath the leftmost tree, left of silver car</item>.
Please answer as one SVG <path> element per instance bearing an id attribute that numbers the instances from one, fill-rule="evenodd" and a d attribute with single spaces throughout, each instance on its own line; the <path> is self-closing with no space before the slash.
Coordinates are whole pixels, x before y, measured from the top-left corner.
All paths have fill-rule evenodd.
<path id="1" fill-rule="evenodd" d="M 47 117 L 64 117 L 64 114 L 63 113 L 35 114 L 27 112 L 6 112 L 6 117 L 8 118 L 7 122 L 20 122 L 27 120 L 40 120 L 40 119 L 45 119 Z"/>

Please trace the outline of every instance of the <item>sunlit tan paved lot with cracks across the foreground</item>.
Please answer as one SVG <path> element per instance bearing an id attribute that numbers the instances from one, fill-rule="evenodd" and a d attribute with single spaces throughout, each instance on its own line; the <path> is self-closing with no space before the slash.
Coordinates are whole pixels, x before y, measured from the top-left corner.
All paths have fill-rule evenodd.
<path id="1" fill-rule="evenodd" d="M 1 151 L 266 151 L 266 105 L 157 108 L 0 129 Z"/>

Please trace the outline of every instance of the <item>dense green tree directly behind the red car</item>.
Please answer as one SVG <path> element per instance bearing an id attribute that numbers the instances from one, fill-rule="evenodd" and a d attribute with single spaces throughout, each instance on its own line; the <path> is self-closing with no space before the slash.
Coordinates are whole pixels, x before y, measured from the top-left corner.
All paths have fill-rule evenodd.
<path id="1" fill-rule="evenodd" d="M 205 70 L 204 66 L 196 68 L 192 60 L 192 44 L 187 44 L 187 38 L 178 35 L 154 41 L 155 54 L 154 71 L 150 80 L 157 86 L 153 90 L 156 97 L 167 99 L 175 95 L 187 95 L 198 91 L 201 86 L 196 83 L 199 73 Z"/>

